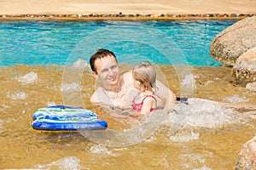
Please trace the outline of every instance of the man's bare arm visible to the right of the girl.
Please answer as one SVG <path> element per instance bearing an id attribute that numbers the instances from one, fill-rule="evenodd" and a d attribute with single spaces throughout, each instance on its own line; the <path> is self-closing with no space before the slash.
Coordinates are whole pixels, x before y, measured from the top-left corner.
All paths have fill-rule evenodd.
<path id="1" fill-rule="evenodd" d="M 156 80 L 156 87 L 158 90 L 156 91 L 155 95 L 164 102 L 164 109 L 171 109 L 172 105 L 176 103 L 176 95 L 173 94 L 169 88 L 167 88 L 162 82 L 158 80 Z"/>

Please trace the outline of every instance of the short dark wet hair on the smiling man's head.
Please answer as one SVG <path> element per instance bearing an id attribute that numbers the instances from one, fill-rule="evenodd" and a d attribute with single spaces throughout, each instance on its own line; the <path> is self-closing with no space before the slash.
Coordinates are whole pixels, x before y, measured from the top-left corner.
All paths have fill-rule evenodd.
<path id="1" fill-rule="evenodd" d="M 101 48 L 101 49 L 98 49 L 95 54 L 92 54 L 91 57 L 90 57 L 90 69 L 91 69 L 91 71 L 95 71 L 97 73 L 96 66 L 95 66 L 96 59 L 102 59 L 102 58 L 107 57 L 107 56 L 113 56 L 114 59 L 117 61 L 113 52 L 109 51 L 108 49 Z"/>

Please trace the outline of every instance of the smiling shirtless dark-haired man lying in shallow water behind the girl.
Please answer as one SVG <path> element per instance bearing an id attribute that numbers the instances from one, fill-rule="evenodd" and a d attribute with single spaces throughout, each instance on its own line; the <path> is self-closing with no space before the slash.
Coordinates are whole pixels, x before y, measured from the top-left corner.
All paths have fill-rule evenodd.
<path id="1" fill-rule="evenodd" d="M 102 83 L 90 97 L 93 103 L 113 105 L 120 109 L 131 108 L 131 100 L 138 95 L 133 86 L 132 72 L 119 75 L 116 56 L 108 49 L 99 49 L 90 57 L 92 75 Z M 164 84 L 156 81 L 158 90 L 155 95 L 158 108 L 170 109 L 176 102 L 176 96 Z"/>

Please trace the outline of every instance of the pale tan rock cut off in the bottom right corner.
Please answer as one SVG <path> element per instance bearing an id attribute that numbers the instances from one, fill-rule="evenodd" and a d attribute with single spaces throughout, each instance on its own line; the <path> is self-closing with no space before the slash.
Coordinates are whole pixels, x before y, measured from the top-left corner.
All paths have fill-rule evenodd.
<path id="1" fill-rule="evenodd" d="M 256 136 L 243 144 L 236 162 L 236 170 L 256 169 Z"/>

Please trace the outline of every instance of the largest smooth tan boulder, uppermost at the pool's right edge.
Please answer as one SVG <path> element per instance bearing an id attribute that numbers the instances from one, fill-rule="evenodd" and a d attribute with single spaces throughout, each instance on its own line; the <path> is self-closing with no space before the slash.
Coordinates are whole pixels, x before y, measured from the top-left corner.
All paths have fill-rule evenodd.
<path id="1" fill-rule="evenodd" d="M 212 40 L 210 54 L 224 65 L 234 65 L 236 59 L 256 46 L 256 16 L 236 22 Z"/>

